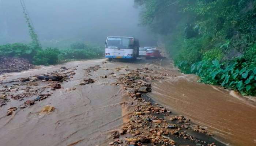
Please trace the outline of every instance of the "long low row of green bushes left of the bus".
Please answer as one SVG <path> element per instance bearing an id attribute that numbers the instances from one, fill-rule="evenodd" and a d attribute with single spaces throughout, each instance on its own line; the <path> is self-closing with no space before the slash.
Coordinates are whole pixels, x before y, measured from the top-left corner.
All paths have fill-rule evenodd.
<path id="1" fill-rule="evenodd" d="M 85 45 L 84 45 L 85 46 Z M 54 65 L 70 59 L 92 59 L 103 57 L 105 50 L 102 47 L 87 45 L 84 49 L 65 49 L 48 47 L 35 48 L 22 43 L 0 45 L 0 57 L 20 57 L 29 59 L 35 65 Z"/>

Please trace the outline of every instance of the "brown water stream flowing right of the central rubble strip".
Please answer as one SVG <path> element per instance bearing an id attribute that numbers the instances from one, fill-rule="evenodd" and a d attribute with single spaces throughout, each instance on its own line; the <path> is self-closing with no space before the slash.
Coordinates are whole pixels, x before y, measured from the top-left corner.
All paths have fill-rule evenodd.
<path id="1" fill-rule="evenodd" d="M 218 87 L 196 82 L 196 76 L 178 75 L 156 82 L 150 94 L 155 100 L 193 122 L 207 127 L 230 146 L 256 145 L 256 106 Z"/>

